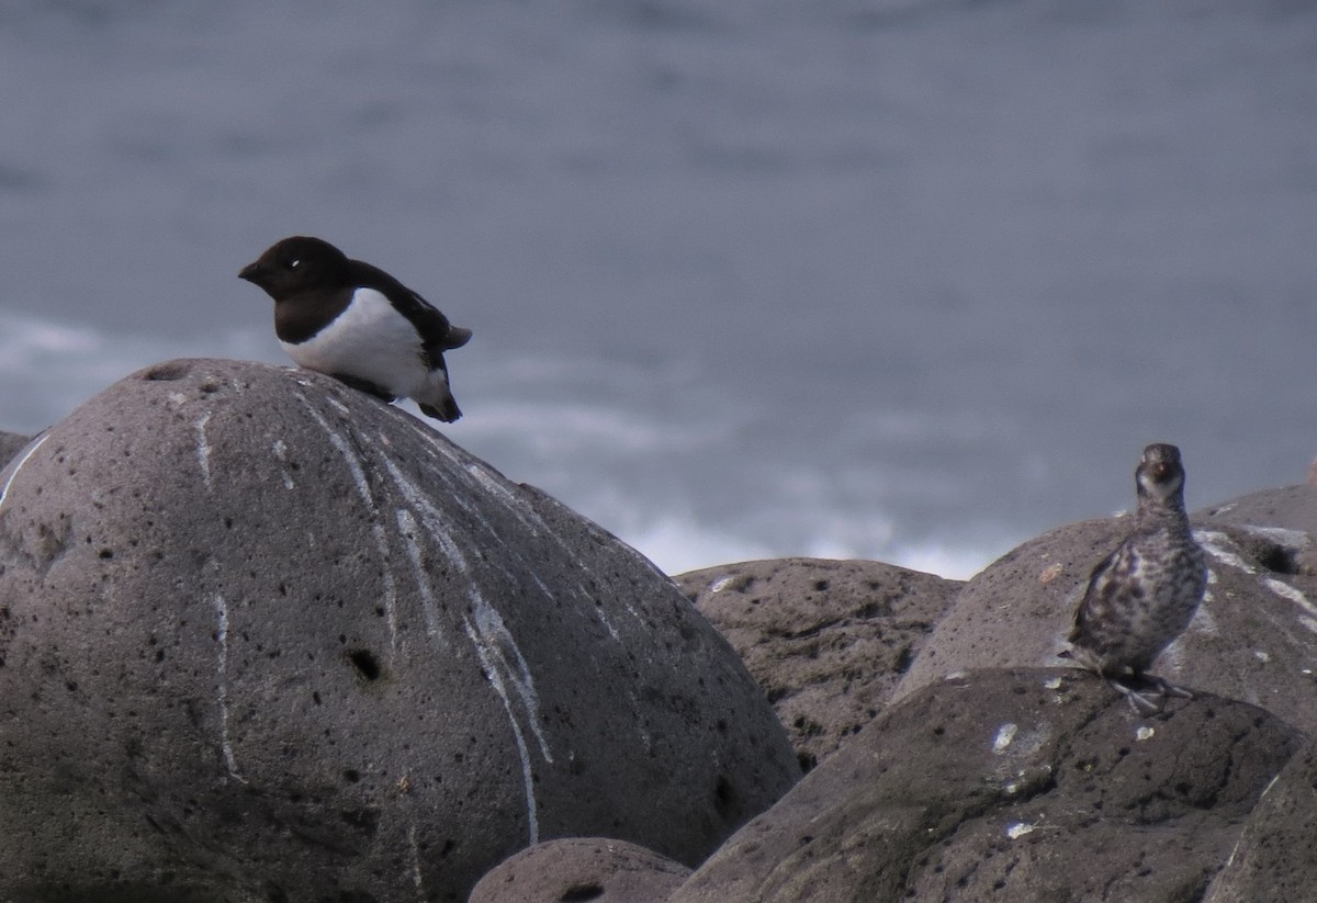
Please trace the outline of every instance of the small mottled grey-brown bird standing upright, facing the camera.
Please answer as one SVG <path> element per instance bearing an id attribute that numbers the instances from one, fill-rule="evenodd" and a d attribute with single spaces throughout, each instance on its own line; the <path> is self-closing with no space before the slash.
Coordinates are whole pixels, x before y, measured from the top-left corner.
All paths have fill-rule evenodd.
<path id="1" fill-rule="evenodd" d="M 1160 442 L 1143 449 L 1134 482 L 1134 529 L 1093 569 L 1062 654 L 1106 678 L 1137 712 L 1151 715 L 1162 706 L 1150 695 L 1192 699 L 1147 670 L 1189 625 L 1208 586 L 1208 565 L 1184 512 L 1180 450 Z"/>

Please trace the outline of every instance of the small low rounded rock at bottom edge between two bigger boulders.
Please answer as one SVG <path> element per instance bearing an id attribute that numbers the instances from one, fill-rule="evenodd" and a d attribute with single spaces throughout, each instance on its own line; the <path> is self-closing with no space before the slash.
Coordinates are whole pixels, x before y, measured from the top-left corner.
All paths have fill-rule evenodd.
<path id="1" fill-rule="evenodd" d="M 548 840 L 481 878 L 468 903 L 662 903 L 690 869 L 606 837 Z"/>

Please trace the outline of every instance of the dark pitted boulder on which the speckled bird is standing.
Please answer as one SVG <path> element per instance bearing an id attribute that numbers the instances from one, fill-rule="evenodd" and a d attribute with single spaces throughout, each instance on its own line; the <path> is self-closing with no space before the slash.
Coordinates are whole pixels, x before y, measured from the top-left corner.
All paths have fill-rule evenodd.
<path id="1" fill-rule="evenodd" d="M 670 903 L 1202 899 L 1303 742 L 1209 694 L 1141 719 L 1073 669 L 969 671 L 888 707 Z"/>

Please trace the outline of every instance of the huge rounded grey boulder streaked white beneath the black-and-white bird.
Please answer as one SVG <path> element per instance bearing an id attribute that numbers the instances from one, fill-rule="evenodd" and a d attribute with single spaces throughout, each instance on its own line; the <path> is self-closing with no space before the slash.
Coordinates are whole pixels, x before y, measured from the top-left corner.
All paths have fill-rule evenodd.
<path id="1" fill-rule="evenodd" d="M 158 365 L 0 486 L 3 900 L 461 900 L 798 778 L 668 578 L 333 379 Z"/>

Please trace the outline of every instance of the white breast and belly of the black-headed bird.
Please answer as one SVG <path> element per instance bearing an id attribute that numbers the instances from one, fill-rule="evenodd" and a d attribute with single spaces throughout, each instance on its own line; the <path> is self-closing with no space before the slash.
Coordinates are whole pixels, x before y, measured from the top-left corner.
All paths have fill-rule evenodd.
<path id="1" fill-rule="evenodd" d="M 279 344 L 298 366 L 369 379 L 399 398 L 412 396 L 428 375 L 416 329 L 373 288 L 358 288 L 348 308 L 307 341 Z"/>

